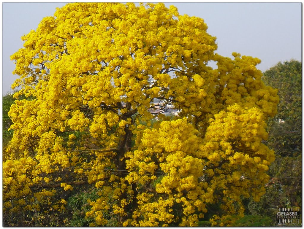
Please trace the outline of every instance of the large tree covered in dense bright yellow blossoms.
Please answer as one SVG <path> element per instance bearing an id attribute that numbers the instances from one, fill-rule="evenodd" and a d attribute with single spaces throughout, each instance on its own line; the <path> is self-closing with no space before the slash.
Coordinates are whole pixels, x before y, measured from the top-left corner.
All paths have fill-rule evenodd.
<path id="1" fill-rule="evenodd" d="M 244 213 L 241 196 L 258 201 L 277 92 L 259 59 L 216 54 L 206 30 L 162 3 L 73 3 L 23 36 L 3 212 L 61 212 L 62 193 L 94 189 L 91 225 L 110 213 L 120 226 L 195 226 L 212 204 L 216 224 Z"/>

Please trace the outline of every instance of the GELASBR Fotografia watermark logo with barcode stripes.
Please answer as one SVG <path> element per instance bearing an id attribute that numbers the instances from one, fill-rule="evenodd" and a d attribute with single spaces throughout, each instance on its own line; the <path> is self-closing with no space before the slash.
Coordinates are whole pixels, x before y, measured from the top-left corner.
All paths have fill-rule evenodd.
<path id="1" fill-rule="evenodd" d="M 277 208 L 275 211 L 275 223 L 289 226 L 302 224 L 301 210 L 299 208 Z"/>

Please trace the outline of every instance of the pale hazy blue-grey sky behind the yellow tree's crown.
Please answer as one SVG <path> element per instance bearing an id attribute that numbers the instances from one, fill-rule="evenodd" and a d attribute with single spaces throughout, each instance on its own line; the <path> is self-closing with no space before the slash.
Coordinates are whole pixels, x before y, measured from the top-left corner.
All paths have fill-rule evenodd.
<path id="1" fill-rule="evenodd" d="M 175 5 L 180 14 L 198 16 L 217 37 L 217 53 L 232 52 L 262 60 L 265 71 L 279 61 L 302 58 L 302 3 L 165 3 Z M 43 17 L 54 14 L 65 3 L 2 3 L 2 95 L 11 91 L 17 76 L 10 55 L 22 48 L 21 36 L 36 29 Z"/>

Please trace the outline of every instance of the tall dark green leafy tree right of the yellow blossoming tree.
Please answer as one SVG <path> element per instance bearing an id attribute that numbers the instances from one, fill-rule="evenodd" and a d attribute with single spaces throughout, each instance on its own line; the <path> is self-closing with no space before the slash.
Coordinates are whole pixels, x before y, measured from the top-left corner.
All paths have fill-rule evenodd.
<path id="1" fill-rule="evenodd" d="M 266 85 L 277 88 L 278 113 L 268 120 L 268 147 L 276 154 L 271 179 L 260 202 L 250 201 L 249 214 L 275 215 L 276 207 L 301 207 L 302 200 L 302 63 L 278 63 L 264 72 Z"/>

